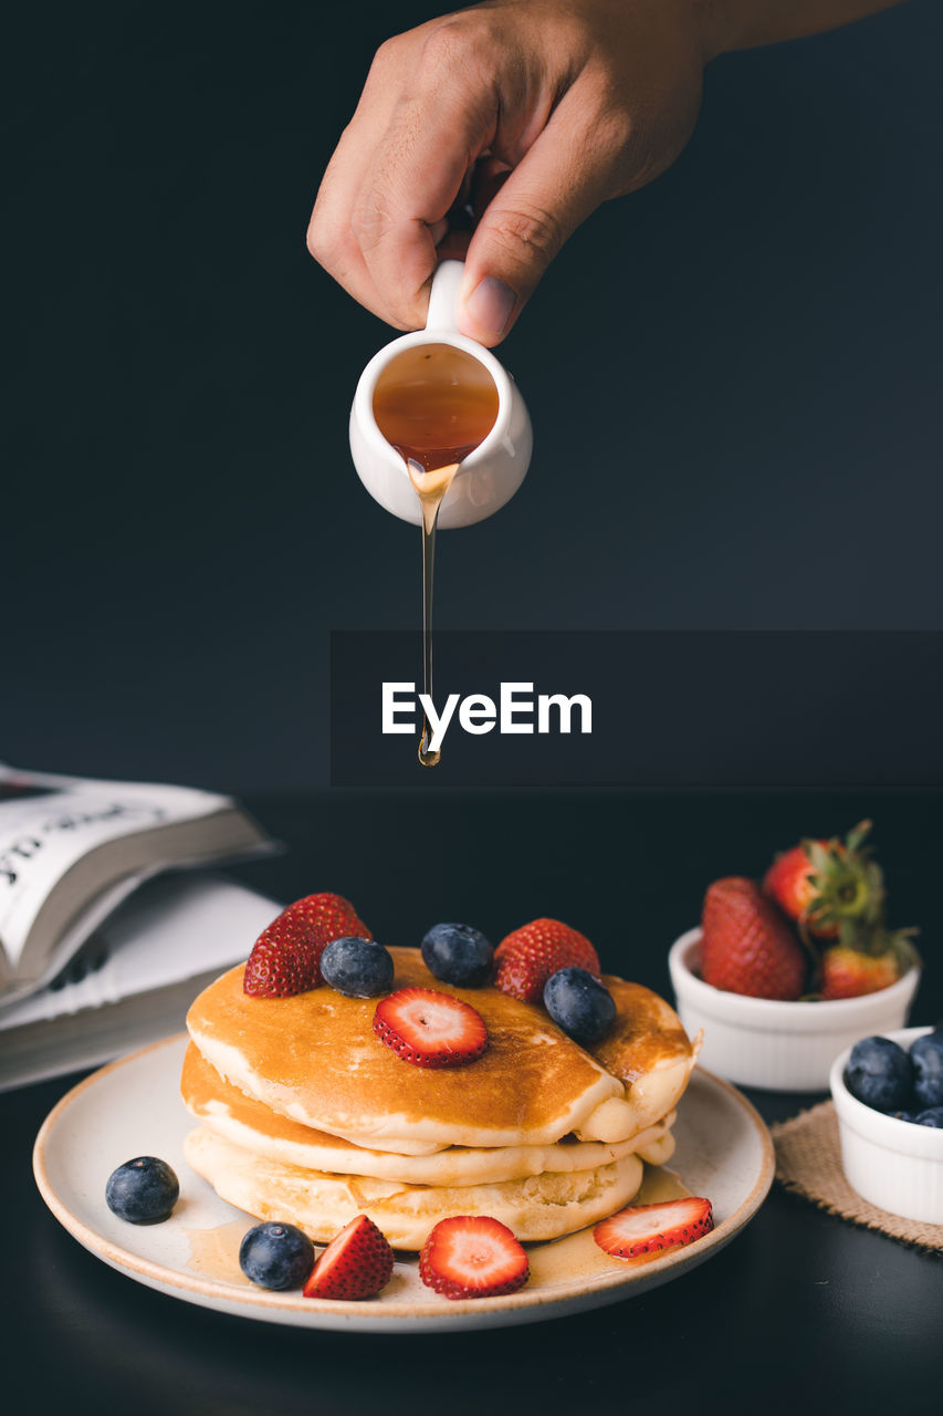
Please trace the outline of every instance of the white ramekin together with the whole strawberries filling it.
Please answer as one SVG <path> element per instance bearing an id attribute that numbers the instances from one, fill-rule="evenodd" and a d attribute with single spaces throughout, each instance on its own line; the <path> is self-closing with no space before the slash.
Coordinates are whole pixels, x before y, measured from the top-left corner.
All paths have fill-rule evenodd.
<path id="1" fill-rule="evenodd" d="M 912 929 L 891 930 L 869 821 L 804 840 L 762 881 L 728 875 L 668 969 L 704 1066 L 743 1086 L 824 1092 L 835 1056 L 902 1028 L 920 980 Z"/>

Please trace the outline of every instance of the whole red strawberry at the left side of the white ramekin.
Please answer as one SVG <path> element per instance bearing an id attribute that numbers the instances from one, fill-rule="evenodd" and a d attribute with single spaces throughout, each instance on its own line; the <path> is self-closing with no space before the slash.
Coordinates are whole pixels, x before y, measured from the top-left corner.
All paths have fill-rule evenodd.
<path id="1" fill-rule="evenodd" d="M 704 898 L 701 977 L 750 998 L 799 998 L 806 953 L 755 881 L 714 881 Z"/>

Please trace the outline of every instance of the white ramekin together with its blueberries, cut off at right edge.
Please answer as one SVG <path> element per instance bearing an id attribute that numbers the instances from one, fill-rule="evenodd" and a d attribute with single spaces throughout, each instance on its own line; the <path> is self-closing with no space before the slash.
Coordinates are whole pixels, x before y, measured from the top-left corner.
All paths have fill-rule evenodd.
<path id="1" fill-rule="evenodd" d="M 852 1189 L 943 1225 L 943 1022 L 862 1038 L 835 1059 L 830 1085 Z"/>

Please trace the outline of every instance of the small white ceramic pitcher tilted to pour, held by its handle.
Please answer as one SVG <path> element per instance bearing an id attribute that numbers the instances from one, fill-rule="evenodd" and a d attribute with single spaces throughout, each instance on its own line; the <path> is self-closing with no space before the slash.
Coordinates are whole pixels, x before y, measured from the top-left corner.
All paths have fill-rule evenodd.
<path id="1" fill-rule="evenodd" d="M 360 377 L 350 411 L 350 450 L 360 480 L 375 501 L 404 521 L 422 521 L 419 497 L 402 456 L 392 447 L 374 418 L 374 389 L 379 374 L 396 354 L 418 344 L 452 344 L 483 364 L 498 394 L 498 412 L 484 442 L 459 467 L 439 511 L 439 530 L 483 521 L 510 501 L 524 481 L 531 460 L 531 419 L 517 384 L 490 350 L 459 334 L 457 303 L 464 266 L 443 261 L 432 279 L 425 330 L 404 334 L 374 354 Z"/>

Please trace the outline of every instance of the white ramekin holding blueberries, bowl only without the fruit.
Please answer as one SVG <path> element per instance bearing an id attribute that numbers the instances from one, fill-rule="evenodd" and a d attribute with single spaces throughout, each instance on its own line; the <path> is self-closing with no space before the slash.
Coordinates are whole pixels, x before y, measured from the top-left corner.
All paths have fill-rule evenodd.
<path id="1" fill-rule="evenodd" d="M 884 1037 L 906 1051 L 923 1032 L 932 1028 L 902 1028 L 884 1032 Z M 879 1209 L 903 1219 L 943 1225 L 943 1131 L 899 1121 L 896 1116 L 885 1116 L 858 1102 L 844 1082 L 850 1052 L 851 1048 L 845 1048 L 835 1058 L 830 1078 L 845 1180 Z"/>

